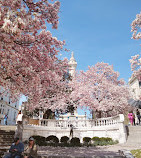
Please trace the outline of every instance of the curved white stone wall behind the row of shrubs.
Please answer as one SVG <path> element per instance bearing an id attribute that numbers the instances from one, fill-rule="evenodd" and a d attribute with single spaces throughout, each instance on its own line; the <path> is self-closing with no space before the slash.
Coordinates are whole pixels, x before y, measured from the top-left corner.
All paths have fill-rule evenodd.
<path id="1" fill-rule="evenodd" d="M 106 122 L 105 120 L 111 120 L 111 123 L 105 123 L 102 124 L 102 122 Z M 94 122 L 91 122 L 89 120 L 86 120 L 85 126 L 75 127 L 74 126 L 74 137 L 80 138 L 80 141 L 82 142 L 83 137 L 111 137 L 113 140 L 118 140 L 119 143 L 125 143 L 127 139 L 127 134 L 124 126 L 124 116 L 119 115 L 118 117 L 111 117 L 111 118 L 102 118 L 98 119 L 97 124 L 94 124 Z M 116 121 L 115 121 L 116 120 Z M 55 135 L 59 139 L 62 136 L 70 136 L 70 127 L 69 126 L 58 126 L 56 124 L 53 124 L 57 122 L 58 120 L 53 120 L 53 122 L 49 122 L 49 124 L 46 124 L 46 126 L 37 126 L 37 125 L 24 125 L 24 131 L 23 131 L 23 140 L 27 140 L 30 136 L 33 135 L 40 135 L 44 137 L 48 137 L 50 135 Z M 101 122 L 101 124 L 100 124 Z M 108 121 L 107 121 L 108 122 Z M 93 126 L 92 124 L 93 123 Z M 56 126 L 55 126 L 56 125 Z M 66 125 L 66 122 L 65 122 Z"/>

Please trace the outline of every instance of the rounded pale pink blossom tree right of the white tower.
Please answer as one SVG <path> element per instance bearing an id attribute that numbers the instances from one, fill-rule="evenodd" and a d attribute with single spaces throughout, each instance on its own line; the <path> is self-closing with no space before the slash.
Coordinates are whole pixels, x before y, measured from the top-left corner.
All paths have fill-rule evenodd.
<path id="1" fill-rule="evenodd" d="M 71 97 L 79 100 L 80 106 L 108 115 L 123 113 L 128 108 L 128 88 L 107 63 L 97 63 L 86 72 L 80 71 L 70 84 Z"/>

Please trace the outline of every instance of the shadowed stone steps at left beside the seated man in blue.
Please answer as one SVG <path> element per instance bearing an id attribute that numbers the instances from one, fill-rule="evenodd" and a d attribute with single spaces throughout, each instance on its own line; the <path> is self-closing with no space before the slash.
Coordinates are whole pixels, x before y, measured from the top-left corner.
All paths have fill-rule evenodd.
<path id="1" fill-rule="evenodd" d="M 13 142 L 15 131 L 11 129 L 1 128 L 0 126 L 0 158 L 9 150 Z"/>

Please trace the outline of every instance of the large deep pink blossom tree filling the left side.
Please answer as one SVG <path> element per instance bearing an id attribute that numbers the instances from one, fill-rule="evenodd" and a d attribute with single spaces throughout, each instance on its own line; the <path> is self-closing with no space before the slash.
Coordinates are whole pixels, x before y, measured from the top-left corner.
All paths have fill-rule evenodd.
<path id="1" fill-rule="evenodd" d="M 0 85 L 30 108 L 63 102 L 67 60 L 58 60 L 65 42 L 47 30 L 58 27 L 60 2 L 0 0 Z M 1 90 L 2 91 L 2 90 Z"/>

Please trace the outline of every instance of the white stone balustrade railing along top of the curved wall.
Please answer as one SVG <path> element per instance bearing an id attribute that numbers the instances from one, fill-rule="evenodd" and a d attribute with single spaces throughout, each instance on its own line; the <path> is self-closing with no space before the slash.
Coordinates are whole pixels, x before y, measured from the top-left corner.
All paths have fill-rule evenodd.
<path id="1" fill-rule="evenodd" d="M 42 119 L 39 121 L 40 126 L 46 126 L 50 128 L 69 128 L 73 125 L 75 128 L 93 128 L 95 126 L 110 126 L 118 124 L 121 121 L 120 115 L 107 118 L 99 118 L 96 120 L 52 120 Z M 124 121 L 124 120 L 123 120 Z"/>

